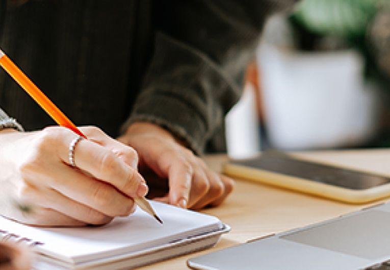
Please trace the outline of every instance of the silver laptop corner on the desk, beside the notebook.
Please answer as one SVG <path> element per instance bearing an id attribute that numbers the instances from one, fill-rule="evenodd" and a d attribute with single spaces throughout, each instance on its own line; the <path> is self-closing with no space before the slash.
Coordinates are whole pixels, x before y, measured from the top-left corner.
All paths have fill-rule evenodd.
<path id="1" fill-rule="evenodd" d="M 194 269 L 390 270 L 390 203 L 192 258 Z"/>

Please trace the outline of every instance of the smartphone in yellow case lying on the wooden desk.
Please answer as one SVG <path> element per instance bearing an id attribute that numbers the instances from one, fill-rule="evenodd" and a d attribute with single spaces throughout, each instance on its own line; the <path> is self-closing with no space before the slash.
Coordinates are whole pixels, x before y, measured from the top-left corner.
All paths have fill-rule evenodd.
<path id="1" fill-rule="evenodd" d="M 254 180 L 347 203 L 390 196 L 390 177 L 299 159 L 283 152 L 230 160 L 226 175 Z"/>

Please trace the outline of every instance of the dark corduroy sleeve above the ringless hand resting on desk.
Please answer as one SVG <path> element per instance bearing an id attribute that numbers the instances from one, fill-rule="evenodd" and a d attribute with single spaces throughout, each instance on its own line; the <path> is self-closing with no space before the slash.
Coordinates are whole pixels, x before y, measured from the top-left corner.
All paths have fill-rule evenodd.
<path id="1" fill-rule="evenodd" d="M 293 1 L 156 2 L 154 55 L 124 128 L 159 124 L 201 154 L 241 95 L 266 16 Z"/>

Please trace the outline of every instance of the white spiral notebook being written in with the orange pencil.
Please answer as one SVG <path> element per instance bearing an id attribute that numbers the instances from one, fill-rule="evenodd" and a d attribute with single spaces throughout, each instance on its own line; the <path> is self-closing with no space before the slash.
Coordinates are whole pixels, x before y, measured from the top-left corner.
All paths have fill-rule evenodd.
<path id="1" fill-rule="evenodd" d="M 212 247 L 229 230 L 210 215 L 151 205 L 164 224 L 139 208 L 101 227 L 37 228 L 0 217 L 0 238 L 33 245 L 37 269 L 119 269 Z"/>

